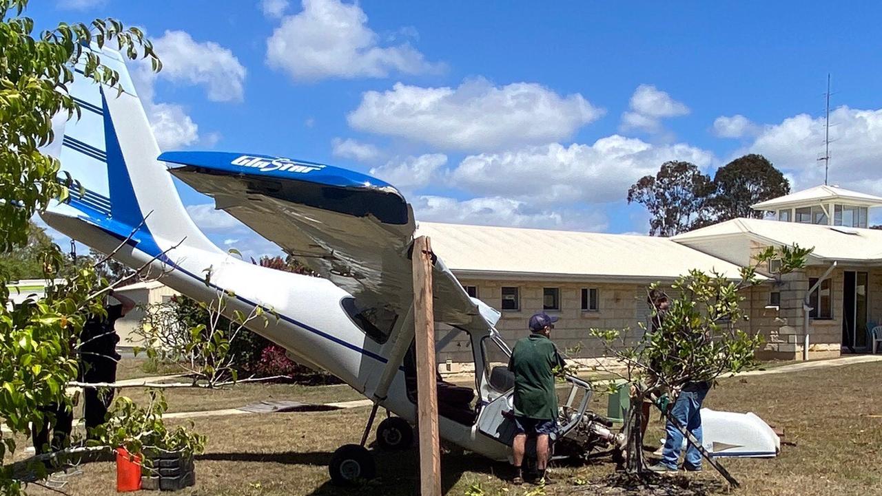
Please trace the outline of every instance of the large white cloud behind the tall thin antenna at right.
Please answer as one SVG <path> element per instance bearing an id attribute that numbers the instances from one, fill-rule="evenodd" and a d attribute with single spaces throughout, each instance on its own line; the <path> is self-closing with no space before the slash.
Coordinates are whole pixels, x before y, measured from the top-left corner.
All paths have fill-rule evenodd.
<path id="1" fill-rule="evenodd" d="M 882 108 L 838 107 L 830 113 L 830 183 L 882 195 Z M 795 189 L 824 183 L 823 117 L 795 115 L 766 125 L 741 152 L 761 153 L 788 173 Z"/>

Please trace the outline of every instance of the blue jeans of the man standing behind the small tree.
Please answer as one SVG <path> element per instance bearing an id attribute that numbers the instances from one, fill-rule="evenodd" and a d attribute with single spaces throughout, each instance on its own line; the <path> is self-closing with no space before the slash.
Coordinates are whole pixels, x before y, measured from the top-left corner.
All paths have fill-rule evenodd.
<path id="1" fill-rule="evenodd" d="M 711 389 L 710 382 L 687 382 L 680 395 L 676 396 L 676 402 L 670 411 L 670 417 L 675 418 L 677 424 L 685 427 L 695 439 L 699 440 L 699 443 L 701 442 L 701 403 L 705 401 L 709 389 Z M 654 472 L 676 472 L 677 460 L 683 449 L 683 434 L 670 419 L 665 431 L 667 437 L 664 441 L 662 461 L 649 467 L 649 470 Z M 691 443 L 687 443 L 683 468 L 693 472 L 701 470 L 701 453 Z"/>

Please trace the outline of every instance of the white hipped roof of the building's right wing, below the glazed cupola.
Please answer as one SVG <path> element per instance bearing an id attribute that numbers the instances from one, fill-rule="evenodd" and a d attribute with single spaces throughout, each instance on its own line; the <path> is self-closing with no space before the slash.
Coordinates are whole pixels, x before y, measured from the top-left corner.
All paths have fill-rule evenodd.
<path id="1" fill-rule="evenodd" d="M 812 257 L 822 261 L 882 262 L 882 230 L 878 229 L 735 218 L 689 233 L 677 234 L 671 239 L 680 242 L 714 239 L 726 242 L 724 238 L 736 234 L 768 245 L 797 244 L 802 248 L 814 248 Z"/>

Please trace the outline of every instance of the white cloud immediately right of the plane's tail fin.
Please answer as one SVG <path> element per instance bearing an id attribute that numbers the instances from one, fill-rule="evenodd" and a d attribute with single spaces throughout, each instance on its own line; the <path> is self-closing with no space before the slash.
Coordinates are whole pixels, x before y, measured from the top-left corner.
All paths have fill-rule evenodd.
<path id="1" fill-rule="evenodd" d="M 162 70 L 153 72 L 145 61 L 131 70 L 153 134 L 162 150 L 191 146 L 200 142 L 198 124 L 182 105 L 156 102 L 154 86 L 159 78 L 176 84 L 204 85 L 212 101 L 243 99 L 245 69 L 233 53 L 213 41 L 194 41 L 189 33 L 166 31 L 153 41 L 162 60 Z M 216 144 L 220 135 L 209 133 L 204 142 Z"/>

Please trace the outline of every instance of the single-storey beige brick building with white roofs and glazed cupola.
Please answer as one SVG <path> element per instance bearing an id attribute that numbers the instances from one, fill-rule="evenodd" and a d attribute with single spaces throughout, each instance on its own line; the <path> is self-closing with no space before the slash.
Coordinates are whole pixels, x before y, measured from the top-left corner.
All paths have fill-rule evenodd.
<path id="1" fill-rule="evenodd" d="M 744 290 L 751 319 L 742 326 L 766 337 L 764 358 L 804 358 L 807 331 L 813 359 L 871 348 L 870 329 L 882 321 L 882 231 L 867 228 L 876 206 L 882 197 L 820 186 L 754 205 L 772 219 L 736 218 L 673 238 L 430 222 L 418 234 L 431 237 L 470 294 L 502 311 L 497 329 L 507 341 L 525 336 L 528 317 L 544 310 L 560 316 L 555 341 L 579 345 L 574 358 L 583 359 L 602 352 L 588 329 L 643 332 L 654 281 L 691 269 L 737 278 L 767 246 L 814 248 L 804 270 L 776 278 L 759 268 L 766 279 Z M 457 332 L 438 329 L 442 370 L 472 361 Z"/>

